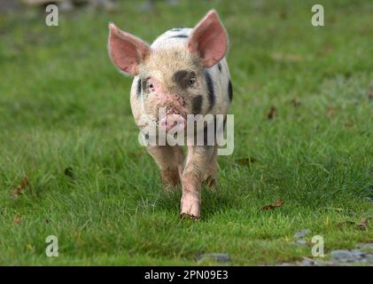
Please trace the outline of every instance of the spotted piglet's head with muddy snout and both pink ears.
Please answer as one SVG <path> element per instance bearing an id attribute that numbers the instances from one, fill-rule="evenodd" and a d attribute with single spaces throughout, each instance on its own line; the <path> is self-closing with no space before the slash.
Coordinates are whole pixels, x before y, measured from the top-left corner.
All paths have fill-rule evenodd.
<path id="1" fill-rule="evenodd" d="M 175 123 L 185 126 L 187 114 L 207 114 L 212 105 L 212 78 L 206 68 L 213 67 L 228 48 L 228 36 L 212 10 L 182 39 L 150 46 L 110 24 L 109 53 L 121 72 L 136 76 L 138 99 L 144 111 L 158 117 L 159 125 L 169 130 Z M 171 36 L 172 37 L 172 36 Z M 214 92 L 214 90 L 213 90 Z"/>

